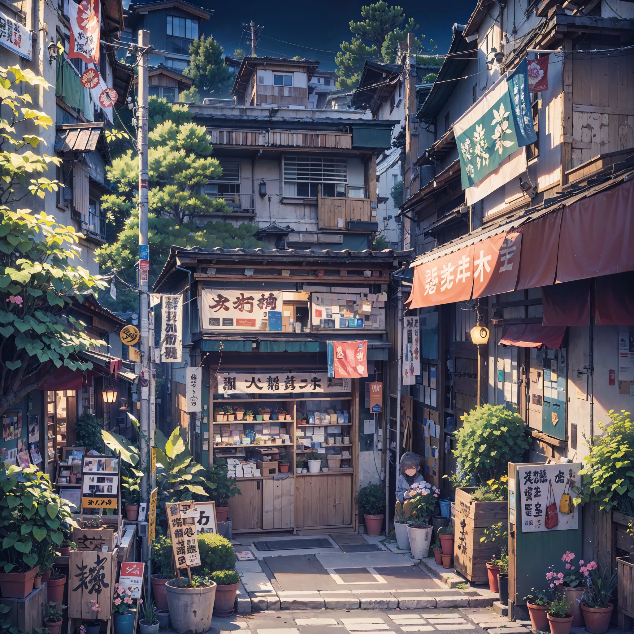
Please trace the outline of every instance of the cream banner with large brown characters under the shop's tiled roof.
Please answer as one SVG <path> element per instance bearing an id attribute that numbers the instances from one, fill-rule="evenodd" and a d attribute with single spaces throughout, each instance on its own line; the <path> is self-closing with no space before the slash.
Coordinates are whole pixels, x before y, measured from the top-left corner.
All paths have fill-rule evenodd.
<path id="1" fill-rule="evenodd" d="M 203 330 L 281 331 L 281 304 L 281 290 L 204 288 L 200 309 L 201 327 Z"/>

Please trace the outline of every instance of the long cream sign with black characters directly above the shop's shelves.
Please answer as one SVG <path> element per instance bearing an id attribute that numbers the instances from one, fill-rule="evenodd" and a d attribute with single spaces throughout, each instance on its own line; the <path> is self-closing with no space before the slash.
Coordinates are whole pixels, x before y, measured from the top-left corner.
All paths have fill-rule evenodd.
<path id="1" fill-rule="evenodd" d="M 218 373 L 218 394 L 297 394 L 302 392 L 350 392 L 347 378 L 329 378 L 326 372 Z"/>

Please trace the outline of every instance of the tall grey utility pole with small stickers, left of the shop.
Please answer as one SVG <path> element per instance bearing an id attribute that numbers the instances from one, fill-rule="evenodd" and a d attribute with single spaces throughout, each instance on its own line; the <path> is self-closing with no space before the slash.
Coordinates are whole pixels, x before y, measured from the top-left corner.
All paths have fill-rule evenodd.
<path id="1" fill-rule="evenodd" d="M 150 387 L 152 384 L 152 360 L 150 358 L 150 314 L 148 297 L 148 53 L 150 32 L 139 31 L 139 103 L 138 112 L 138 146 L 139 146 L 139 325 L 141 326 L 141 377 L 139 378 L 141 397 L 141 469 L 150 464 Z M 145 269 L 145 270 L 144 270 Z M 141 478 L 141 501 L 149 501 L 148 476 Z"/>

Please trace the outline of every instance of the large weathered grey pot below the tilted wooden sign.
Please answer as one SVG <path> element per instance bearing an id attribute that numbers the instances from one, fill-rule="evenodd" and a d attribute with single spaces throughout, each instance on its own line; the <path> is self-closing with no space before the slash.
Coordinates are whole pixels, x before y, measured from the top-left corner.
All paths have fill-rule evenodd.
<path id="1" fill-rule="evenodd" d="M 166 588 L 172 628 L 179 634 L 204 634 L 209 631 L 216 599 L 216 582 L 209 577 L 193 574 L 191 583 L 181 578 L 179 584 L 178 579 L 172 579 L 167 582 Z"/>

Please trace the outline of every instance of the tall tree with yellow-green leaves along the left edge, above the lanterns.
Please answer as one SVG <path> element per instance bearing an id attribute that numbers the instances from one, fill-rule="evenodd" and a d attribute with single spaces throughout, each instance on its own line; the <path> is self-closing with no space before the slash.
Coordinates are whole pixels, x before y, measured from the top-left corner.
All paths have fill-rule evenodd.
<path id="1" fill-rule="evenodd" d="M 92 368 L 77 353 L 95 342 L 68 309 L 105 287 L 86 269 L 72 266 L 83 237 L 72 226 L 57 224 L 44 212 L 12 210 L 23 198 L 44 198 L 60 186 L 37 178 L 60 160 L 25 149 L 37 148 L 39 136 L 16 134 L 16 127 L 23 129 L 29 121 L 44 129 L 53 124 L 46 113 L 20 105 L 31 103 L 29 86 L 51 87 L 30 70 L 0 68 L 0 105 L 12 113 L 0 120 L 0 415 L 56 368 Z"/>

